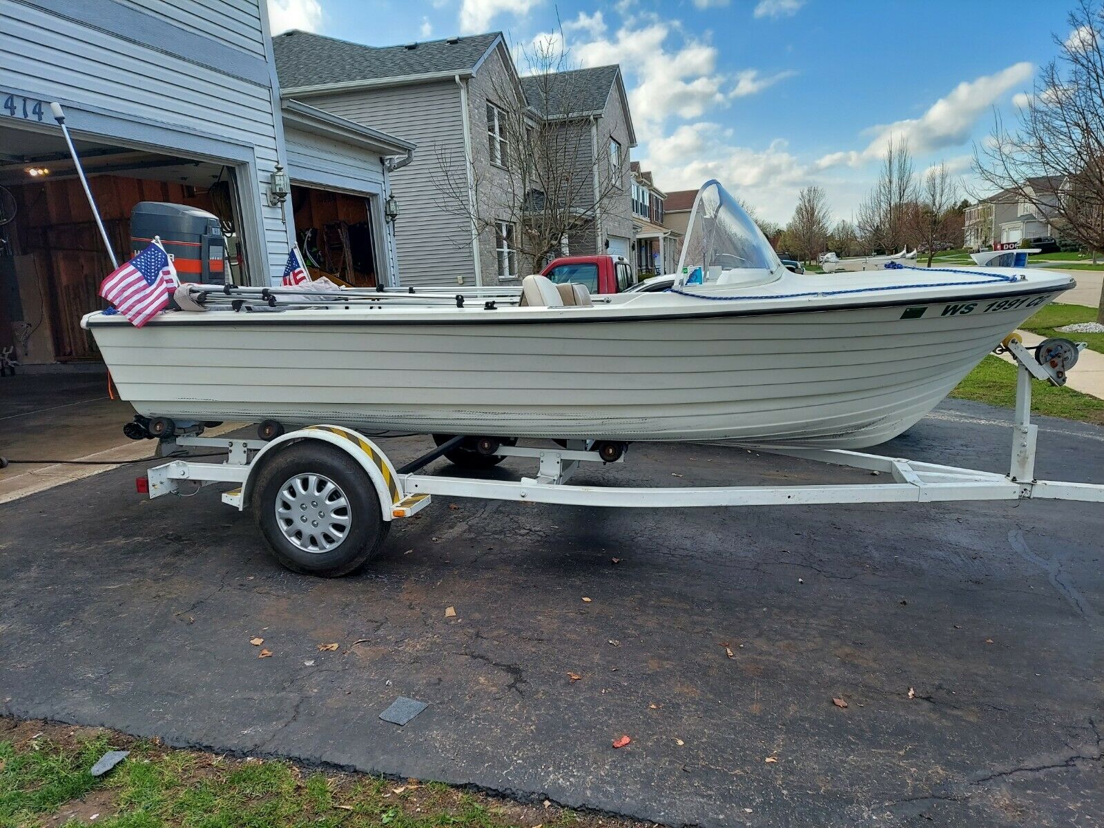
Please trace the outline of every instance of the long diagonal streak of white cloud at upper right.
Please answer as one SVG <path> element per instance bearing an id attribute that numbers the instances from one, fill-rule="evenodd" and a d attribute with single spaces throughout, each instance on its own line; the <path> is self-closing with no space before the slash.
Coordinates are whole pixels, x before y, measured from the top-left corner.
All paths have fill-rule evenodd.
<path id="1" fill-rule="evenodd" d="M 840 163 L 858 166 L 880 158 L 890 140 L 907 140 L 914 155 L 965 144 L 978 118 L 1010 89 L 1028 81 L 1032 72 L 1032 65 L 1023 62 L 992 75 L 963 81 L 919 118 L 871 127 L 864 130 L 874 136 L 866 149 L 830 152 L 817 161 L 817 167 L 826 169 Z"/>

